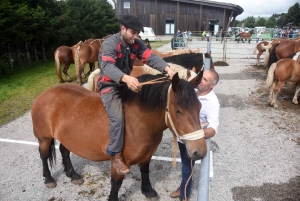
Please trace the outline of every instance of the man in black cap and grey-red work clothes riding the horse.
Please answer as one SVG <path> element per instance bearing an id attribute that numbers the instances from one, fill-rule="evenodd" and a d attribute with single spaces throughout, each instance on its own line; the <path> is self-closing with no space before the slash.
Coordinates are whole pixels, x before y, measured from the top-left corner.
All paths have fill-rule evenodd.
<path id="1" fill-rule="evenodd" d="M 100 96 L 110 120 L 110 142 L 106 149 L 112 165 L 120 175 L 129 173 L 123 159 L 124 111 L 120 96 L 120 85 L 126 83 L 134 92 L 141 90 L 137 78 L 130 76 L 135 58 L 154 67 L 160 72 L 166 71 L 172 78 L 175 74 L 168 64 L 152 53 L 142 40 L 138 39 L 143 25 L 133 15 L 122 17 L 120 32 L 107 38 L 100 47 L 98 61 L 100 72 Z"/>

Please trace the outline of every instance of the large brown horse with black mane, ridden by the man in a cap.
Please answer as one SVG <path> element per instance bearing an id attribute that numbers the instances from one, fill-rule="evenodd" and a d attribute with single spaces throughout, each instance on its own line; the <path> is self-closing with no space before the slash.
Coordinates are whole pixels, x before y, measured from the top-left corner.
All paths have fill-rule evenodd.
<path id="1" fill-rule="evenodd" d="M 140 166 L 141 190 L 147 198 L 157 196 L 150 183 L 149 163 L 165 129 L 170 128 L 184 141 L 189 158 L 198 160 L 206 154 L 204 132 L 199 121 L 201 103 L 194 91 L 202 74 L 197 75 L 191 83 L 179 79 L 178 74 L 175 74 L 171 82 L 166 80 L 144 85 L 139 93 L 126 86 L 122 87 L 124 161 L 129 167 Z M 138 80 L 143 83 L 163 77 L 147 74 L 138 77 Z M 65 118 L 66 114 L 69 118 Z M 110 160 L 105 151 L 109 143 L 109 118 L 99 94 L 76 84 L 62 84 L 36 97 L 31 116 L 47 187 L 56 186 L 48 165 L 48 160 L 50 166 L 55 160 L 55 139 L 60 141 L 59 150 L 66 175 L 74 184 L 82 184 L 84 181 L 74 171 L 70 152 L 93 161 Z M 111 165 L 110 201 L 118 200 L 123 179 L 124 175 L 117 174 Z"/>

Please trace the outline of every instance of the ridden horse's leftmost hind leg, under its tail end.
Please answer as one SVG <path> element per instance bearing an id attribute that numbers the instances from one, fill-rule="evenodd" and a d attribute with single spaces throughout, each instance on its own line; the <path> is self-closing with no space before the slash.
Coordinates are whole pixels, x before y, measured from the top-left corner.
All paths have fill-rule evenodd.
<path id="1" fill-rule="evenodd" d="M 40 141 L 39 152 L 43 164 L 43 177 L 45 177 L 45 185 L 47 188 L 55 188 L 56 181 L 51 176 L 47 159 L 50 161 L 51 167 L 53 166 L 53 159 L 55 160 L 55 143 L 54 139 L 50 143 L 47 141 Z"/>

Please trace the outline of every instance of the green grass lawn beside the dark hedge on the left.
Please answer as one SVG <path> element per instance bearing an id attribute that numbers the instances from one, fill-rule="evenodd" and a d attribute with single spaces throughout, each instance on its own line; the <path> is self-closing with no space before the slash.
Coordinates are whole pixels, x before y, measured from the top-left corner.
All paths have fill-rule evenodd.
<path id="1" fill-rule="evenodd" d="M 153 49 L 169 41 L 151 42 Z M 96 65 L 98 66 L 98 65 Z M 85 67 L 85 72 L 89 69 Z M 76 73 L 72 64 L 68 74 L 76 84 Z M 63 78 L 64 75 L 63 75 Z M 87 78 L 83 79 L 84 82 Z M 42 91 L 59 85 L 54 61 L 41 62 L 29 69 L 20 70 L 8 77 L 0 78 L 0 126 L 23 115 L 31 109 L 35 97 Z"/>

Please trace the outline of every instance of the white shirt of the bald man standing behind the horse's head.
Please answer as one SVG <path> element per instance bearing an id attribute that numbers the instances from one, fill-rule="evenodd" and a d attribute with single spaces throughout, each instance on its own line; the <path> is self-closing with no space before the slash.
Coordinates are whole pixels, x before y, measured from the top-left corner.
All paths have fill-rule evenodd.
<path id="1" fill-rule="evenodd" d="M 200 123 L 207 122 L 207 128 L 213 128 L 217 134 L 220 114 L 220 103 L 218 97 L 215 92 L 211 90 L 211 92 L 205 96 L 198 96 L 198 100 L 202 104 L 199 114 Z M 183 143 L 180 139 L 177 140 L 178 142 Z"/>

